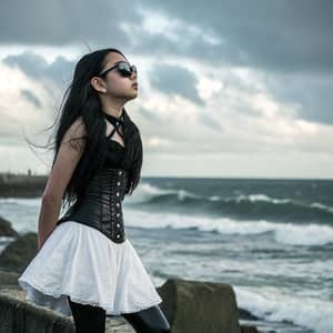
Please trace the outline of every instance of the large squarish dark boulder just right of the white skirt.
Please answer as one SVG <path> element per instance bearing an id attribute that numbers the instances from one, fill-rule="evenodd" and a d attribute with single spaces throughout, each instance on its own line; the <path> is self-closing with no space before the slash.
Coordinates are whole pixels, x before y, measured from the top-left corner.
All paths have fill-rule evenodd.
<path id="1" fill-rule="evenodd" d="M 230 284 L 170 279 L 160 289 L 172 333 L 241 333 Z"/>

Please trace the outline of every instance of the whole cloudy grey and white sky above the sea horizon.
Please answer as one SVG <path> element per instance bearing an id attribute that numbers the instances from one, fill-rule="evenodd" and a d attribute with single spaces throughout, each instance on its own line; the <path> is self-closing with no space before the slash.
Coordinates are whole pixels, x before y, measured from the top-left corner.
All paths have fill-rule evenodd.
<path id="1" fill-rule="evenodd" d="M 142 175 L 333 176 L 333 2 L 1 1 L 0 172 L 47 173 L 87 52 L 138 67 Z"/>

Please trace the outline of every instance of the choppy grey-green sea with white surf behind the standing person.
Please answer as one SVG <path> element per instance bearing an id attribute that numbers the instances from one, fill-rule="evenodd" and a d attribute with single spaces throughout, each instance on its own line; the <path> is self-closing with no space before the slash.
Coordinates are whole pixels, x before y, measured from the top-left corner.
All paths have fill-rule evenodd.
<path id="1" fill-rule="evenodd" d="M 20 233 L 37 232 L 39 210 L 40 198 L 0 199 Z M 333 180 L 142 178 L 123 218 L 155 286 L 229 283 L 256 317 L 241 324 L 333 332 Z"/>

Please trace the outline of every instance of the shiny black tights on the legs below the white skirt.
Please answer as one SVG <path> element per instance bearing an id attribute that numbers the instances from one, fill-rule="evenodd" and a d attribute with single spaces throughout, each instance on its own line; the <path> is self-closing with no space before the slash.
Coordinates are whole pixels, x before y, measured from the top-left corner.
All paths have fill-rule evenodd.
<path id="1" fill-rule="evenodd" d="M 68 301 L 72 311 L 75 333 L 104 333 L 104 309 L 89 304 Z M 170 333 L 170 325 L 159 305 L 133 313 L 122 313 L 122 316 L 132 325 L 138 333 Z"/>

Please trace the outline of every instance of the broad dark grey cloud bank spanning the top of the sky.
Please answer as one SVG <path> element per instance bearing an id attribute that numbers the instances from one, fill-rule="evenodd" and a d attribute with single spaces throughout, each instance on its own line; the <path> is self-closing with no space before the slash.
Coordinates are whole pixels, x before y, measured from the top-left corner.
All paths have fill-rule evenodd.
<path id="1" fill-rule="evenodd" d="M 193 24 L 223 39 L 210 44 L 191 30 L 176 31 L 180 41 L 141 33 L 140 42 L 120 24 L 142 26 L 138 6 Z M 153 14 L 153 13 L 152 13 Z M 333 69 L 333 1 L 6 1 L 0 4 L 0 42 L 58 44 L 72 42 L 121 44 L 150 54 L 172 53 L 216 63 L 274 71 Z M 140 30 L 140 32 L 142 32 Z M 135 36 L 139 38 L 139 36 Z"/>

